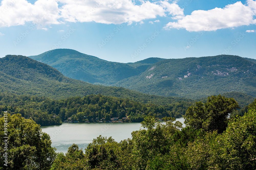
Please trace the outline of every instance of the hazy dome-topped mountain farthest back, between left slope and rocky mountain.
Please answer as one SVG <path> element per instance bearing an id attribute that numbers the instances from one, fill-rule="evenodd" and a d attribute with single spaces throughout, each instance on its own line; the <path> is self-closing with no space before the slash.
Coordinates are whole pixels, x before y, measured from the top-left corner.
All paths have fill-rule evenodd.
<path id="1" fill-rule="evenodd" d="M 152 64 L 165 60 L 148 58 L 135 63 L 119 63 L 102 60 L 72 49 L 55 49 L 29 57 L 56 68 L 69 78 L 102 85 L 111 85 L 139 75 Z"/>

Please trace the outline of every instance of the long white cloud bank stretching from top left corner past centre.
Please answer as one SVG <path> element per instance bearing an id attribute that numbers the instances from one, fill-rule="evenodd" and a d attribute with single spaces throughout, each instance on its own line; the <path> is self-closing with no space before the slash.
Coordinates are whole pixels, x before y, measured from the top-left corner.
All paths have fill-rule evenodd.
<path id="1" fill-rule="evenodd" d="M 166 0 L 140 0 L 140 4 L 132 0 L 38 0 L 34 4 L 27 0 L 2 0 L 0 27 L 26 22 L 33 22 L 40 29 L 64 22 L 131 24 L 166 15 L 183 15 L 183 9 Z"/>

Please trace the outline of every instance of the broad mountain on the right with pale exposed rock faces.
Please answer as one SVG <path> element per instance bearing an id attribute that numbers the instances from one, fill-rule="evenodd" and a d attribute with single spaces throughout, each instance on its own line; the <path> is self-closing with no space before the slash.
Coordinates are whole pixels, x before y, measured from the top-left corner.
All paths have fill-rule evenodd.
<path id="1" fill-rule="evenodd" d="M 192 99 L 230 91 L 256 97 L 256 64 L 231 55 L 166 59 L 113 86 Z"/>

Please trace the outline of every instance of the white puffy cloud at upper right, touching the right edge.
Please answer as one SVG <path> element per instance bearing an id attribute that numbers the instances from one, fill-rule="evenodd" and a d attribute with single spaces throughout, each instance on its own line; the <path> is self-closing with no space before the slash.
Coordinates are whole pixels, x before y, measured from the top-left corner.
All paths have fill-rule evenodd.
<path id="1" fill-rule="evenodd" d="M 215 31 L 242 25 L 256 24 L 256 1 L 248 0 L 246 5 L 240 1 L 225 8 L 196 10 L 191 15 L 173 17 L 177 22 L 169 22 L 165 29 L 176 28 L 187 31 Z"/>

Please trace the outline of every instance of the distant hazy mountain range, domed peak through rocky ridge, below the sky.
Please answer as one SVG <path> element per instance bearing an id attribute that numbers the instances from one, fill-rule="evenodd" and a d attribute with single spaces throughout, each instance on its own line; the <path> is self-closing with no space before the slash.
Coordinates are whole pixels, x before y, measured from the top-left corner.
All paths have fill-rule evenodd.
<path id="1" fill-rule="evenodd" d="M 118 63 L 75 50 L 56 49 L 30 58 L 70 78 L 146 94 L 198 99 L 236 91 L 256 97 L 256 60 L 239 56 L 148 58 Z"/>

